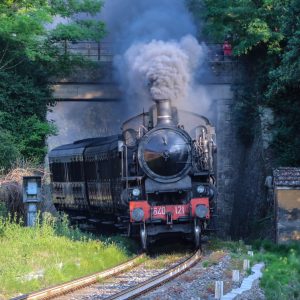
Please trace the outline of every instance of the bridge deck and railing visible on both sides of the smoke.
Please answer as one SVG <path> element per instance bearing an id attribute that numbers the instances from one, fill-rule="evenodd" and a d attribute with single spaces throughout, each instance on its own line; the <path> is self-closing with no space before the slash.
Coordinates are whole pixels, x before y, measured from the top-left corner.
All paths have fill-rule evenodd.
<path id="1" fill-rule="evenodd" d="M 66 78 L 55 78 L 54 97 L 58 101 L 116 99 L 120 97 L 113 65 L 116 44 L 111 42 L 66 42 L 62 53 L 83 55 L 93 66 L 75 70 Z M 198 70 L 199 84 L 233 84 L 241 82 L 241 64 L 224 57 L 221 44 L 208 45 L 208 59 Z"/>

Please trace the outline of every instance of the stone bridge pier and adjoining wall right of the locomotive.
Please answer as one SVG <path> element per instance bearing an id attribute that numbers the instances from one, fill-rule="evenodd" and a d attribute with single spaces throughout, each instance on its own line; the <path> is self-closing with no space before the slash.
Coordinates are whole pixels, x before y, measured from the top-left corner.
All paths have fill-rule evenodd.
<path id="1" fill-rule="evenodd" d="M 264 124 L 259 117 L 249 124 L 255 136 L 247 145 L 238 134 L 235 107 L 242 88 L 243 85 L 234 82 L 211 88 L 216 107 L 213 121 L 217 134 L 217 224 L 221 237 L 255 238 L 272 232 L 262 230 L 264 226 L 272 226 L 270 219 L 260 221 L 268 216 L 272 203 L 268 202 L 264 185 L 268 175 Z"/>

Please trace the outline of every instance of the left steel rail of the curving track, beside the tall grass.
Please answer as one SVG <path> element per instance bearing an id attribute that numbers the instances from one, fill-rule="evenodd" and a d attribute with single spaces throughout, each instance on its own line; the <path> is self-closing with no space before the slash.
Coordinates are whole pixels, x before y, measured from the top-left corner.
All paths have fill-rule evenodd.
<path id="1" fill-rule="evenodd" d="M 54 297 L 58 297 L 63 294 L 70 293 L 74 290 L 89 286 L 93 283 L 96 283 L 100 279 L 106 279 L 108 277 L 111 277 L 113 275 L 119 274 L 125 270 L 128 270 L 129 268 L 132 268 L 136 265 L 138 265 L 140 259 L 144 257 L 144 254 L 138 255 L 134 257 L 133 259 L 120 264 L 116 267 L 113 267 L 111 269 L 94 273 L 92 275 L 84 276 L 78 279 L 74 279 L 72 281 L 62 283 L 60 285 L 56 285 L 50 288 L 45 288 L 43 290 L 33 292 L 30 294 L 24 294 L 21 296 L 17 296 L 15 298 L 12 298 L 11 300 L 41 300 L 41 299 L 51 299 Z"/>

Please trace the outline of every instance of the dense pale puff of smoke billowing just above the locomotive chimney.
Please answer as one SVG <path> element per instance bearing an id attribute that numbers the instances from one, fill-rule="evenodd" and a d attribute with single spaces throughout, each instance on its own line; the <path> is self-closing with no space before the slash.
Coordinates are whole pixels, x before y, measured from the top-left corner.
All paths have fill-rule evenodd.
<path id="1" fill-rule="evenodd" d="M 174 102 L 188 98 L 194 71 L 203 62 L 205 47 L 186 35 L 180 41 L 152 40 L 135 43 L 122 58 L 122 74 L 129 98 L 147 97 L 170 99 Z M 149 97 L 149 96 L 148 96 Z"/>

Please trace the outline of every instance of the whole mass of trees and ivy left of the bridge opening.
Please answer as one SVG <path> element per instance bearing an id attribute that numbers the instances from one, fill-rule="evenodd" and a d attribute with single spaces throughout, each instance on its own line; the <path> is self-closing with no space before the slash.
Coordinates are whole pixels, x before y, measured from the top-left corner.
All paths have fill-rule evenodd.
<path id="1" fill-rule="evenodd" d="M 85 65 L 70 55 L 70 41 L 99 41 L 104 24 L 91 18 L 102 0 L 0 1 L 0 170 L 18 158 L 43 162 L 45 139 L 55 134 L 46 119 L 54 104 L 50 83 Z M 84 20 L 72 18 L 84 13 Z"/>

